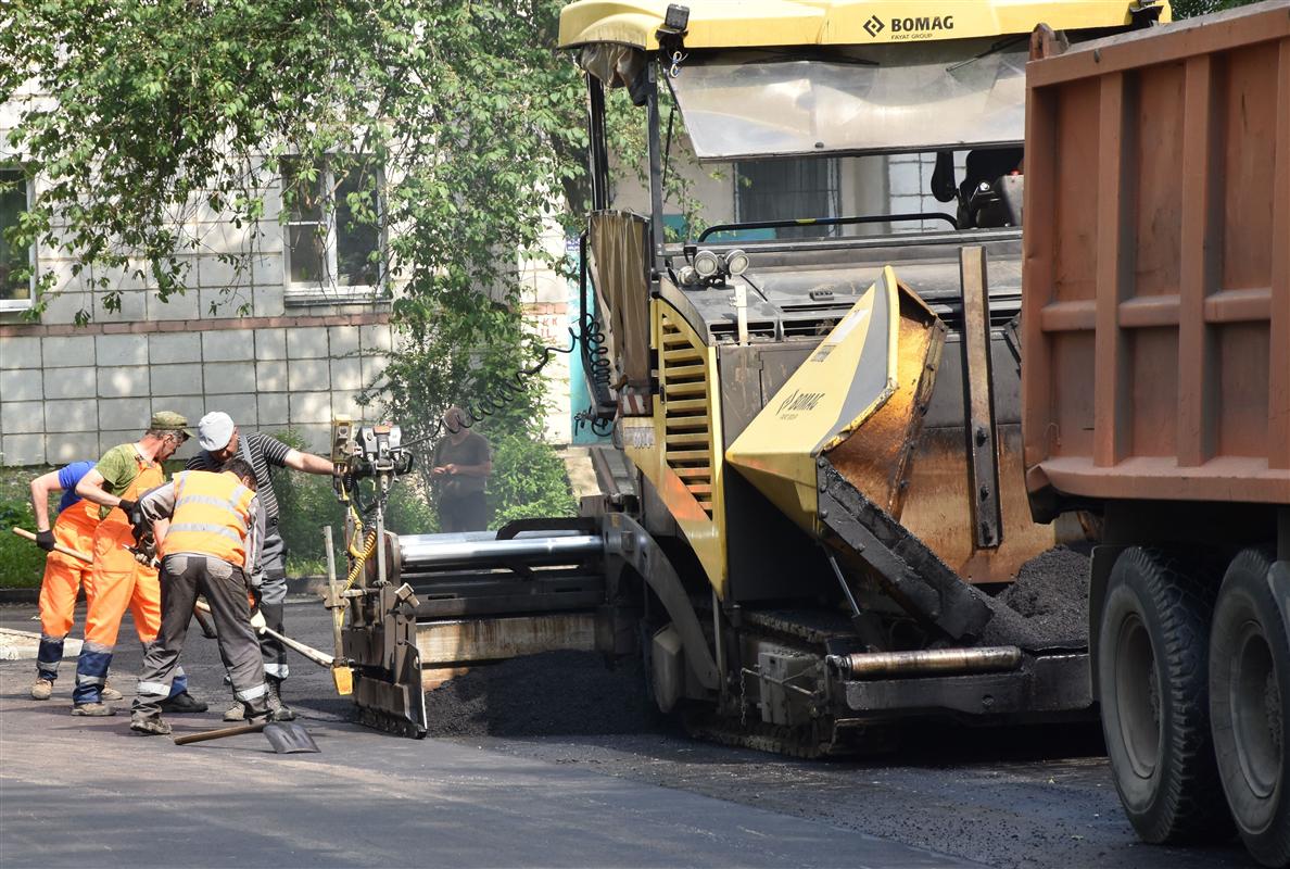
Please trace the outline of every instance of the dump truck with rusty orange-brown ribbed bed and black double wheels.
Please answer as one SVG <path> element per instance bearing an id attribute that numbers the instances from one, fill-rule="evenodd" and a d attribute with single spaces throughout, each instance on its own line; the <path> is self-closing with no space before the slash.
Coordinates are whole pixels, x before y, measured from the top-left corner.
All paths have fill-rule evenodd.
<path id="1" fill-rule="evenodd" d="M 1095 697 L 1148 842 L 1290 864 L 1290 3 L 1027 71 L 1037 518 L 1091 510 Z"/>

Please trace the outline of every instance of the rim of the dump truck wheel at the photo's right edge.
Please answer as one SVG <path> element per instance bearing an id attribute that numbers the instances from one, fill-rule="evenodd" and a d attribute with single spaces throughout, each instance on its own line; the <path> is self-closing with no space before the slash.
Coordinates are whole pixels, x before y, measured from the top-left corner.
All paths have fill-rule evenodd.
<path id="1" fill-rule="evenodd" d="M 1282 706 L 1272 649 L 1263 631 L 1247 622 L 1232 656 L 1232 737 L 1236 757 L 1250 790 L 1260 799 L 1272 795 L 1281 768 Z"/>

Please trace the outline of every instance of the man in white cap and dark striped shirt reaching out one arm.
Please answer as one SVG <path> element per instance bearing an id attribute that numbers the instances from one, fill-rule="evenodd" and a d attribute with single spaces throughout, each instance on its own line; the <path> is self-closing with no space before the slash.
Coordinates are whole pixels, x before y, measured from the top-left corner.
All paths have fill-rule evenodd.
<path id="1" fill-rule="evenodd" d="M 187 470 L 218 471 L 230 458 L 237 457 L 255 470 L 257 495 L 264 514 L 264 544 L 250 581 L 264 622 L 277 633 L 283 630 L 283 604 L 286 600 L 286 547 L 277 531 L 277 497 L 273 495 L 271 467 L 290 467 L 306 474 L 334 474 L 335 466 L 321 456 L 293 449 L 276 438 L 259 431 L 241 434 L 232 417 L 214 411 L 197 422 L 197 445 L 201 452 L 188 460 Z M 264 675 L 268 679 L 268 706 L 277 721 L 294 718 L 283 705 L 283 680 L 289 669 L 286 649 L 267 634 L 261 637 Z M 224 721 L 241 721 L 245 706 L 233 702 Z"/>

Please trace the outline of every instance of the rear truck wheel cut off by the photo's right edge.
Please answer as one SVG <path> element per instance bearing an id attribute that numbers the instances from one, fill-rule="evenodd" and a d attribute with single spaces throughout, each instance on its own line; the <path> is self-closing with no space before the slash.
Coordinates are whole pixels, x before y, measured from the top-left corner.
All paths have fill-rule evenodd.
<path id="1" fill-rule="evenodd" d="M 1281 577 L 1285 577 L 1282 580 Z M 1210 633 L 1210 711 L 1223 790 L 1250 854 L 1290 864 L 1290 642 L 1258 549 L 1227 568 Z"/>

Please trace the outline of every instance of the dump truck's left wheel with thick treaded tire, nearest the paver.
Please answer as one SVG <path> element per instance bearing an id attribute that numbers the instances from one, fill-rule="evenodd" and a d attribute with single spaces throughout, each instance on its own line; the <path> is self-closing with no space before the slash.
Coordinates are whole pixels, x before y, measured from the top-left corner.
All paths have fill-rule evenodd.
<path id="1" fill-rule="evenodd" d="M 1157 844 L 1232 834 L 1210 742 L 1206 591 L 1180 559 L 1134 546 L 1111 568 L 1102 609 L 1098 699 L 1111 770 L 1134 830 Z"/>

